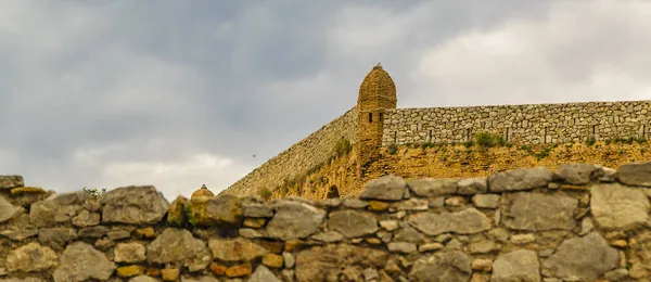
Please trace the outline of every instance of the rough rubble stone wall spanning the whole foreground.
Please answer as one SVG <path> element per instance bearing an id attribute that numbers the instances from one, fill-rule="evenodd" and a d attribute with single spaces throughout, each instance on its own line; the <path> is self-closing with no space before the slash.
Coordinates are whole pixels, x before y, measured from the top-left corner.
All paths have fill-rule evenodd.
<path id="1" fill-rule="evenodd" d="M 0 176 L 0 281 L 651 281 L 651 163 L 366 183 L 265 203 Z"/>

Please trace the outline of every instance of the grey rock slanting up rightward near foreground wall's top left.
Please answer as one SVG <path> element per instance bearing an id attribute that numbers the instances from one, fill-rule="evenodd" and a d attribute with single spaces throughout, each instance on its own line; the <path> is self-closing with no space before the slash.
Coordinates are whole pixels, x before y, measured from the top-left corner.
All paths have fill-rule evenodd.
<path id="1" fill-rule="evenodd" d="M 36 227 L 53 227 L 67 223 L 79 213 L 88 193 L 84 191 L 53 194 L 36 202 L 29 208 L 29 222 Z"/>

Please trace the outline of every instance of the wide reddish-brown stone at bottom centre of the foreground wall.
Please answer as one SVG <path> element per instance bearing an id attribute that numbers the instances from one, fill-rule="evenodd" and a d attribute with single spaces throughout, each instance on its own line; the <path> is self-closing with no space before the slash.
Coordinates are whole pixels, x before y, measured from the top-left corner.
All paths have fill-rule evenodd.
<path id="1" fill-rule="evenodd" d="M 388 253 L 382 251 L 347 244 L 317 246 L 302 251 L 296 256 L 296 280 L 337 281 L 345 267 L 382 268 L 387 257 Z"/>

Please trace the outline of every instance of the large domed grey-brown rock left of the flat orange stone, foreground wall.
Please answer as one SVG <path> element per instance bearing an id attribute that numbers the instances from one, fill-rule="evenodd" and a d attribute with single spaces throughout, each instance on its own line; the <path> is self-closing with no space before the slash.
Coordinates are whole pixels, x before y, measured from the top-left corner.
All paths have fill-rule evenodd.
<path id="1" fill-rule="evenodd" d="M 205 269 L 212 261 L 206 243 L 184 229 L 167 228 L 146 247 L 146 261 L 182 264 L 191 272 Z"/>

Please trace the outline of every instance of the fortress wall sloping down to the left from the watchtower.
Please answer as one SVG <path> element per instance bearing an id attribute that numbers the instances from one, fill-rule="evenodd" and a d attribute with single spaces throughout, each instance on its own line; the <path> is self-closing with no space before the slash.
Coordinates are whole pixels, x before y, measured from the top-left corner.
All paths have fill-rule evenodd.
<path id="1" fill-rule="evenodd" d="M 240 179 L 225 193 L 253 195 L 260 189 L 273 191 L 288 179 L 306 174 L 328 161 L 342 138 L 355 142 L 357 133 L 357 108 L 348 110 L 321 129 L 309 134 L 284 152 Z"/>

